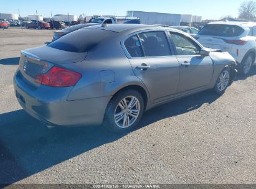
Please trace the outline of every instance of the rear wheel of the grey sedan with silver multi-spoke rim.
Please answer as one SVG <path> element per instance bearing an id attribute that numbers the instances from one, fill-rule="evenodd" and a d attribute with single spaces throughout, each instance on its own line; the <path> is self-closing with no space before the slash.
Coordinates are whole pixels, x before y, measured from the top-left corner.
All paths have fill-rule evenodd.
<path id="1" fill-rule="evenodd" d="M 108 103 L 103 126 L 113 132 L 130 132 L 140 122 L 143 112 L 144 101 L 138 91 L 120 91 Z"/>

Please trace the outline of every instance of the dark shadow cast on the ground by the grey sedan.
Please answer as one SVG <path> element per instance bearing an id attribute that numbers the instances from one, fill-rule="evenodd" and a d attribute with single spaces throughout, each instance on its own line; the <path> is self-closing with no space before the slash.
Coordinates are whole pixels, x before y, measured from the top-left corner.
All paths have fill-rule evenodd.
<path id="1" fill-rule="evenodd" d="M 211 104 L 217 98 L 211 91 L 204 91 L 151 109 L 137 129 Z M 17 182 L 123 136 L 103 126 L 47 129 L 23 109 L 0 114 L 0 184 Z"/>

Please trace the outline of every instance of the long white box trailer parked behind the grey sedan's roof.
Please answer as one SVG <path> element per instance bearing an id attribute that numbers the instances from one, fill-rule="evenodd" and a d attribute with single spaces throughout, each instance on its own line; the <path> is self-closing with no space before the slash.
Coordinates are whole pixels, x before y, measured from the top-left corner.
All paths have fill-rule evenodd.
<path id="1" fill-rule="evenodd" d="M 127 11 L 128 17 L 139 17 L 141 24 L 180 25 L 181 14 Z"/>

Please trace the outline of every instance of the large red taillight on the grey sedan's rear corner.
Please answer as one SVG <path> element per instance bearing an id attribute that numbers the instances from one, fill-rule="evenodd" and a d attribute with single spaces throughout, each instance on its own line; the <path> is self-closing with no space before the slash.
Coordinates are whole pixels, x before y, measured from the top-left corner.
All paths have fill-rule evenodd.
<path id="1" fill-rule="evenodd" d="M 36 76 L 36 82 L 47 86 L 74 86 L 82 77 L 80 73 L 60 67 L 52 67 L 47 73 Z"/>

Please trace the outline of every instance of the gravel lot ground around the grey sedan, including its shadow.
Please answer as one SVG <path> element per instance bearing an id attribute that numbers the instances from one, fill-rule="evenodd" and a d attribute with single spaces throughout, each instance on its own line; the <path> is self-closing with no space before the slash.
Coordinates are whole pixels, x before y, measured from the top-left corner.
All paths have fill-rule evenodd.
<path id="1" fill-rule="evenodd" d="M 16 101 L 19 52 L 52 30 L 0 30 L 0 183 L 256 183 L 256 68 L 222 96 L 205 91 L 145 113 L 120 136 L 47 129 Z"/>

